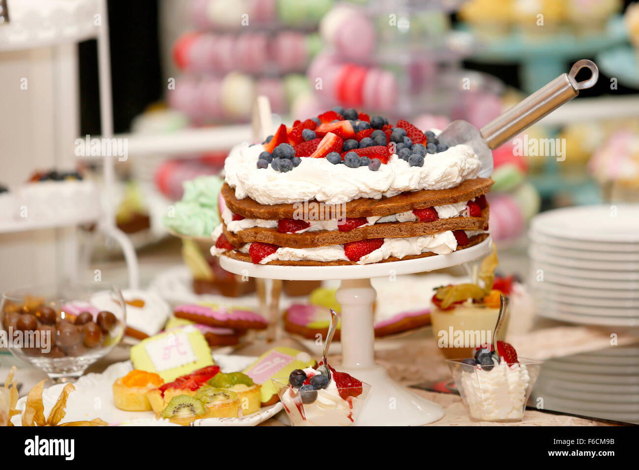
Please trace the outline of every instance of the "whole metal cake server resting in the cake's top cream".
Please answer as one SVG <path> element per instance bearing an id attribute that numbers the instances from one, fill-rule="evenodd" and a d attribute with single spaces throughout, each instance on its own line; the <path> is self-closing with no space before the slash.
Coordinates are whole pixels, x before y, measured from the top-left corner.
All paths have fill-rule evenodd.
<path id="1" fill-rule="evenodd" d="M 575 77 L 582 68 L 588 68 L 591 75 L 588 80 L 578 82 Z M 481 130 L 468 121 L 452 121 L 438 139 L 449 147 L 459 144 L 470 146 L 481 162 L 479 176 L 488 178 L 493 173 L 491 149 L 502 145 L 546 114 L 550 114 L 562 104 L 572 100 L 579 95 L 579 90 L 592 87 L 598 78 L 597 65 L 590 60 L 581 59 L 574 63 L 570 72 L 559 75 L 546 86 L 484 125 Z"/>

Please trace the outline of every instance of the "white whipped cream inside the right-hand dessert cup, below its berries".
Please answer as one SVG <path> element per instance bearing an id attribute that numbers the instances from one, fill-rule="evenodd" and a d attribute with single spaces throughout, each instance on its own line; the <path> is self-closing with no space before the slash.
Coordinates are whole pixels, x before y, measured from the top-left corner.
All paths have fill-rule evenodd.
<path id="1" fill-rule="evenodd" d="M 475 367 L 461 373 L 470 416 L 483 421 L 523 418 L 529 384 L 526 364 L 502 361 L 491 370 Z"/>

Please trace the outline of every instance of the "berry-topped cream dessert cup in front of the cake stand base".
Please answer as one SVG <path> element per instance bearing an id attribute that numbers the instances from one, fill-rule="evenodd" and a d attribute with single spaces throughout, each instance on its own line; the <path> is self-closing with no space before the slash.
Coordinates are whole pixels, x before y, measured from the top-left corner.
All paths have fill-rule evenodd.
<path id="1" fill-rule="evenodd" d="M 328 368 L 330 379 L 319 367 L 296 369 L 288 379 L 271 379 L 293 426 L 351 426 L 357 421 L 371 386 Z"/>

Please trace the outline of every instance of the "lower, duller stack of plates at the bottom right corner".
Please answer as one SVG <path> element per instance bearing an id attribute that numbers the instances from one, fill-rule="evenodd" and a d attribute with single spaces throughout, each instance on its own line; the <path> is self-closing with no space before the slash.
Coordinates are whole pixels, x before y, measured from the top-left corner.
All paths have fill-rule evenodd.
<path id="1" fill-rule="evenodd" d="M 546 410 L 639 423 L 639 347 L 550 359 L 532 398 Z"/>

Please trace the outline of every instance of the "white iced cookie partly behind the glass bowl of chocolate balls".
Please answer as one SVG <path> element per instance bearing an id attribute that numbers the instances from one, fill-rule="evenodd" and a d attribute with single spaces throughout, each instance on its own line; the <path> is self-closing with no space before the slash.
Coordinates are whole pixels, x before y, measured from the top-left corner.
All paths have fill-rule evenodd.
<path id="1" fill-rule="evenodd" d="M 162 297 L 137 289 L 122 291 L 127 304 L 127 336 L 144 340 L 157 334 L 171 315 L 171 307 Z M 119 311 L 120 303 L 109 292 L 98 292 L 91 297 L 91 304 L 100 310 Z"/>

